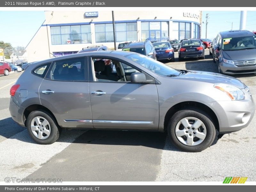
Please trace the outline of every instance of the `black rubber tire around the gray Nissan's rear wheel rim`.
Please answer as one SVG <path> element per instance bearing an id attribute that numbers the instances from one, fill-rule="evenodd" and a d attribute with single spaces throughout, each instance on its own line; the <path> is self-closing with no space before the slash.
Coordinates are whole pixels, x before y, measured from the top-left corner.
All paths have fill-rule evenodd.
<path id="1" fill-rule="evenodd" d="M 50 130 L 50 134 L 49 136 L 46 138 L 46 139 L 39 139 L 37 138 L 34 134 L 38 134 L 39 135 L 39 132 L 40 132 L 40 128 L 38 129 L 38 131 L 34 131 L 34 133 L 32 132 L 32 129 L 31 129 L 31 122 L 34 121 L 33 119 L 36 118 L 36 117 L 43 117 L 44 119 L 46 119 L 49 123 L 48 127 L 46 127 L 46 129 L 49 131 Z M 41 120 L 41 118 L 40 118 Z M 44 122 L 44 121 L 43 121 Z M 42 123 L 43 123 L 42 122 Z M 40 125 L 40 124 L 39 124 Z M 35 126 L 35 124 L 34 124 Z M 42 124 L 43 126 L 43 124 Z M 50 127 L 50 129 L 49 129 Z M 41 131 L 43 131 L 43 128 L 44 127 L 41 127 Z M 37 111 L 32 111 L 29 115 L 28 115 L 28 120 L 27 120 L 27 129 L 28 129 L 28 133 L 30 135 L 30 137 L 36 141 L 37 143 L 39 144 L 52 144 L 54 143 L 56 140 L 59 139 L 59 136 L 60 136 L 60 132 L 61 132 L 61 129 L 58 128 L 58 125 L 57 123 L 55 122 L 54 118 L 52 117 L 51 114 L 49 114 L 47 111 L 44 111 L 44 110 L 37 110 Z M 45 134 L 45 133 L 42 133 L 42 135 Z M 46 135 L 46 134 L 45 134 Z M 47 136 L 47 135 L 46 135 Z"/>

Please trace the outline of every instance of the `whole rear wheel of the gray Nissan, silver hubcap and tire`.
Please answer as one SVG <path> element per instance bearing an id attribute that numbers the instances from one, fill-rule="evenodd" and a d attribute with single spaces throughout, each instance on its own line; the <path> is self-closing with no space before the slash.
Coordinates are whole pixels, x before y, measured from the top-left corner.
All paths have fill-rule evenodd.
<path id="1" fill-rule="evenodd" d="M 28 115 L 27 129 L 30 137 L 39 144 L 52 144 L 60 136 L 54 118 L 44 110 L 32 111 Z"/>

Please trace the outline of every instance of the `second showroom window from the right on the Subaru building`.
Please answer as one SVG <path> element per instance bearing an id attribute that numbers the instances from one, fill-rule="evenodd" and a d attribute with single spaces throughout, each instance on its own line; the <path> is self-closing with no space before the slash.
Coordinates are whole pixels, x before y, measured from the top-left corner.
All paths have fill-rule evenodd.
<path id="1" fill-rule="evenodd" d="M 173 38 L 174 39 L 189 39 L 191 38 L 191 24 L 186 22 L 172 22 Z"/>

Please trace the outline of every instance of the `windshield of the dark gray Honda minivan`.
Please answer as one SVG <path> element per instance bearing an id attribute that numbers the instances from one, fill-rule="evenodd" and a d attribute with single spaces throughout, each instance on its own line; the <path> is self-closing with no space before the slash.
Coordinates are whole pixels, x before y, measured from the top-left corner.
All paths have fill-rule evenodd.
<path id="1" fill-rule="evenodd" d="M 256 36 L 245 36 L 235 38 L 224 38 L 222 40 L 222 49 L 232 51 L 237 49 L 255 49 Z"/>

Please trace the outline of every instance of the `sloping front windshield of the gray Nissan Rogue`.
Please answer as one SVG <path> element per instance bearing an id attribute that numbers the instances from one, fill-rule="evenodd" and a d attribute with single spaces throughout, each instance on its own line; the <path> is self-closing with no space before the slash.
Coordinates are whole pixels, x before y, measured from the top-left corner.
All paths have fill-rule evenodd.
<path id="1" fill-rule="evenodd" d="M 145 55 L 140 54 L 129 54 L 125 56 L 127 59 L 132 60 L 135 63 L 140 64 L 141 66 L 155 72 L 158 75 L 162 76 L 178 76 L 180 74 L 180 71 L 171 68 L 167 65 L 164 65 L 163 63 L 156 61 L 154 59 L 151 59 Z"/>

